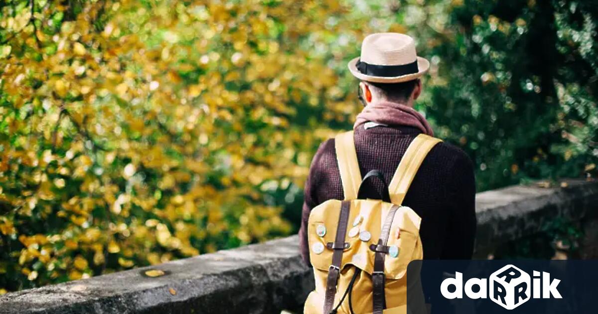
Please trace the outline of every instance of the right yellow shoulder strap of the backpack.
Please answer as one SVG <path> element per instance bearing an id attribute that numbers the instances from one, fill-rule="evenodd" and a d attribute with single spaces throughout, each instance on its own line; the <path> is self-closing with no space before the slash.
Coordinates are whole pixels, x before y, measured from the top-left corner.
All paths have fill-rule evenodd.
<path id="1" fill-rule="evenodd" d="M 401 205 L 423 159 L 426 158 L 432 147 L 439 142 L 442 141 L 432 136 L 420 134 L 409 144 L 405 155 L 396 168 L 395 175 L 388 185 L 390 200 L 393 204 Z"/>

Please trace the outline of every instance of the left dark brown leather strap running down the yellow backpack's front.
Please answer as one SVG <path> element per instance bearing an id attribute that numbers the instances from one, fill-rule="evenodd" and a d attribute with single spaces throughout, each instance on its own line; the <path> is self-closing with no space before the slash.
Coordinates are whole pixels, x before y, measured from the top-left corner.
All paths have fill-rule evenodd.
<path id="1" fill-rule="evenodd" d="M 334 306 L 334 296 L 336 295 L 336 285 L 338 275 L 340 275 L 340 265 L 343 261 L 344 237 L 347 234 L 347 223 L 349 222 L 349 210 L 351 202 L 344 200 L 340 206 L 338 215 L 337 234 L 332 245 L 332 264 L 328 269 L 328 278 L 326 280 L 326 294 L 324 298 L 324 314 L 328 314 Z"/>

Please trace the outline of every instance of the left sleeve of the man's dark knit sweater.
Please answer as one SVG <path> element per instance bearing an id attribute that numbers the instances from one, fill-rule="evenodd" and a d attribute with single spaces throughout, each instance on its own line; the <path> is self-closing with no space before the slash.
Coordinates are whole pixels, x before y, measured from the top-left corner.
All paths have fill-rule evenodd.
<path id="1" fill-rule="evenodd" d="M 299 246 L 301 249 L 301 257 L 303 257 L 303 261 L 307 266 L 311 266 L 309 261 L 309 243 L 307 242 L 307 223 L 309 221 L 310 212 L 312 212 L 313 208 L 319 205 L 316 188 L 318 187 L 319 176 L 321 173 L 320 160 L 322 154 L 325 153 L 325 148 L 328 146 L 327 144 L 330 144 L 328 142 L 332 142 L 332 147 L 334 147 L 334 139 L 329 139 L 320 145 L 315 156 L 313 156 L 312 164 L 309 167 L 309 175 L 307 176 L 307 181 L 305 182 L 305 188 L 303 190 L 304 198 L 303 209 L 301 210 L 301 227 L 299 229 Z"/>

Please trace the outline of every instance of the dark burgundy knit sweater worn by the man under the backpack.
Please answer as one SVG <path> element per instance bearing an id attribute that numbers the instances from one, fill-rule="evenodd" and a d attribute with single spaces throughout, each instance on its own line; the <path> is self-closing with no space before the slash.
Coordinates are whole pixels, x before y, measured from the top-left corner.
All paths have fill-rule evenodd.
<path id="1" fill-rule="evenodd" d="M 378 169 L 384 173 L 386 182 L 390 182 L 405 150 L 419 133 L 419 129 L 406 126 L 378 126 L 367 130 L 359 126 L 355 130 L 355 149 L 361 175 Z M 377 195 L 374 188 L 380 189 L 382 184 L 376 180 L 371 182 L 368 190 L 374 196 Z M 301 254 L 308 265 L 309 214 L 330 199 L 343 199 L 334 139 L 328 139 L 318 148 L 305 185 L 299 237 Z M 475 178 L 473 164 L 465 152 L 445 142 L 435 145 L 423 160 L 403 205 L 422 218 L 423 258 L 471 258 L 476 227 Z"/>

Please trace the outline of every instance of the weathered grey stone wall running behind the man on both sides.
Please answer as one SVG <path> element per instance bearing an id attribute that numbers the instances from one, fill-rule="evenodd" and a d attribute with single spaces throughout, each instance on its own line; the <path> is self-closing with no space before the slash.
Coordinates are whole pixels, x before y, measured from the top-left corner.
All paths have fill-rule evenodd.
<path id="1" fill-rule="evenodd" d="M 581 256 L 598 258 L 598 182 L 514 186 L 477 194 L 475 256 L 562 217 L 584 226 Z M 148 270 L 159 270 L 149 277 Z M 151 272 L 150 272 L 151 274 Z M 280 313 L 313 289 L 298 237 L 0 296 L 0 313 Z"/>

